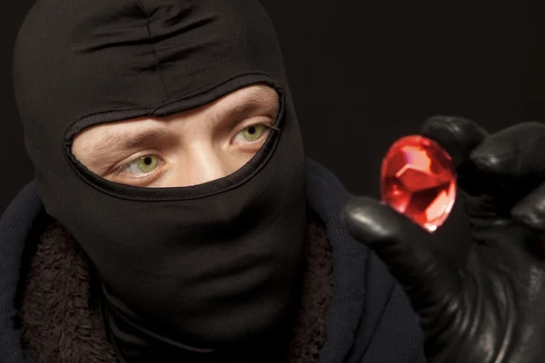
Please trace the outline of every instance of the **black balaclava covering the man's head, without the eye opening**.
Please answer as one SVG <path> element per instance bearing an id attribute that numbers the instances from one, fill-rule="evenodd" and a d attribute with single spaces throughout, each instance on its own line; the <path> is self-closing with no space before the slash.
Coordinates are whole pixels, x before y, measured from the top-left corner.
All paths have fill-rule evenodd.
<path id="1" fill-rule="evenodd" d="M 45 209 L 93 262 L 122 355 L 272 357 L 267 344 L 285 334 L 279 327 L 297 294 L 305 193 L 299 127 L 261 5 L 37 0 L 15 44 L 14 81 Z M 254 83 L 279 93 L 280 131 L 222 179 L 126 186 L 94 175 L 71 153 L 85 127 L 179 113 Z M 263 357 L 241 358 L 251 350 Z"/>

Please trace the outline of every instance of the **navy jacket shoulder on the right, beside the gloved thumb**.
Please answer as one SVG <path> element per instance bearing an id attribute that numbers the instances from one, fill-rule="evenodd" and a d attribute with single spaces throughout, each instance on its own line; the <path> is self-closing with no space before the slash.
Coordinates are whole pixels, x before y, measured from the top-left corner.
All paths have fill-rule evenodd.
<path id="1" fill-rule="evenodd" d="M 306 160 L 307 198 L 325 221 L 333 251 L 333 297 L 321 362 L 420 363 L 420 320 L 390 272 L 341 221 L 352 194 L 327 168 Z"/>

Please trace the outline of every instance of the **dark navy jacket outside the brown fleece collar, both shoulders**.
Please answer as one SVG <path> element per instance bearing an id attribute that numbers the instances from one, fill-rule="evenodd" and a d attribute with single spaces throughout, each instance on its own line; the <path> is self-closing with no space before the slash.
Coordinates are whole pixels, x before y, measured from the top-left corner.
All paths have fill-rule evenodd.
<path id="1" fill-rule="evenodd" d="M 307 199 L 332 249 L 333 294 L 326 321 L 323 363 L 425 362 L 419 319 L 381 261 L 343 229 L 340 211 L 350 197 L 322 165 L 307 159 Z M 22 343 L 18 307 L 24 261 L 45 211 L 30 182 L 0 221 L 0 363 L 30 362 Z"/>

